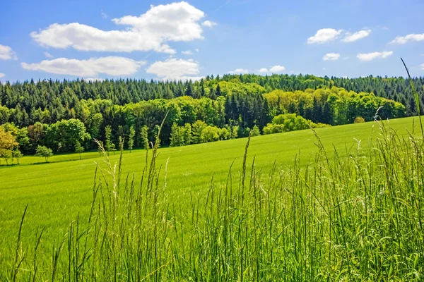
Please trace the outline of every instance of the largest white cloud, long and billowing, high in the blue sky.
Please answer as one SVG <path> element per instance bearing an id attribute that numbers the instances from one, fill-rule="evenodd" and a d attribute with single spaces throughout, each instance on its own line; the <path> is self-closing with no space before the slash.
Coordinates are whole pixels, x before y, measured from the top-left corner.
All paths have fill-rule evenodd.
<path id="1" fill-rule="evenodd" d="M 126 25 L 124 30 L 100 30 L 81 23 L 49 25 L 39 32 L 31 32 L 35 42 L 45 47 L 65 49 L 72 47 L 80 51 L 157 51 L 175 54 L 166 42 L 203 39 L 199 21 L 203 11 L 187 2 L 151 6 L 141 16 L 114 18 L 117 25 Z"/>

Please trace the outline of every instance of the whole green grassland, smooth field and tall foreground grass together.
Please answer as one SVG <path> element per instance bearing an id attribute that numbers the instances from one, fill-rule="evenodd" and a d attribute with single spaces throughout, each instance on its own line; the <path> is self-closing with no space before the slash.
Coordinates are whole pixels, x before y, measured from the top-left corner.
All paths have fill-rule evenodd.
<path id="1" fill-rule="evenodd" d="M 318 139 L 252 137 L 248 154 L 247 139 L 163 148 L 148 166 L 135 150 L 122 174 L 119 154 L 110 165 L 97 152 L 25 157 L 0 168 L 0 278 L 419 281 L 423 143 L 406 128 L 412 118 L 383 135 L 363 123 L 317 129 Z M 94 161 L 105 177 L 98 168 L 93 188 Z"/>

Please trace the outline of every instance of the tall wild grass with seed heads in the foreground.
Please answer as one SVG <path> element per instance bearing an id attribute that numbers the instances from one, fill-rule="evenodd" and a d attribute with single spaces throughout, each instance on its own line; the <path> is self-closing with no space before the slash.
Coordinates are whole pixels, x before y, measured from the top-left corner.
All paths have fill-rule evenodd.
<path id="1" fill-rule="evenodd" d="M 158 140 L 140 183 L 100 145 L 90 214 L 45 250 L 42 231 L 21 242 L 25 208 L 0 281 L 423 281 L 423 138 L 375 125 L 369 150 L 329 157 L 316 135 L 309 165 L 270 171 L 249 137 L 242 168 L 189 207 L 167 197 Z"/>

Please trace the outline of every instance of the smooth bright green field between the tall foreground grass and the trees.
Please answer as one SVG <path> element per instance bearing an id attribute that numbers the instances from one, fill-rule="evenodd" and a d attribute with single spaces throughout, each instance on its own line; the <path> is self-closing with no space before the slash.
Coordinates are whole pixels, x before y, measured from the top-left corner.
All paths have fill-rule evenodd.
<path id="1" fill-rule="evenodd" d="M 400 137 L 407 137 L 408 130 L 412 130 L 412 124 L 413 118 L 401 118 L 389 122 L 390 127 L 396 130 Z M 372 135 L 373 138 L 377 137 L 379 128 L 375 123 L 341 125 L 319 128 L 317 135 L 329 159 L 334 157 L 334 148 L 338 152 L 338 158 L 343 159 L 348 152 L 355 151 L 359 141 L 360 147 L 363 148 L 361 154 L 367 155 Z M 233 161 L 232 177 L 238 180 L 242 173 L 246 142 L 247 139 L 243 138 L 158 149 L 156 164 L 162 165 L 161 180 L 167 164 L 166 201 L 179 205 L 182 214 L 189 214 L 192 202 L 205 202 L 208 199 L 212 176 L 216 189 L 225 188 Z M 247 165 L 252 164 L 252 159 L 255 157 L 255 170 L 264 171 L 267 175 L 274 167 L 274 162 L 278 169 L 293 168 L 298 156 L 299 163 L 303 167 L 315 163 L 319 151 L 315 143 L 317 138 L 312 130 L 252 137 Z M 98 152 L 83 153 L 82 157 L 83 159 L 79 160 L 78 154 L 58 155 L 52 157 L 48 164 L 42 163 L 42 158 L 24 157 L 18 166 L 0 167 L 0 262 L 1 257 L 9 257 L 8 252 L 16 244 L 18 226 L 26 204 L 28 212 L 23 228 L 24 243 L 34 239 L 37 228 L 46 228 L 45 238 L 57 238 L 58 234 L 69 232 L 69 222 L 76 219 L 78 214 L 81 219 L 87 218 L 93 200 L 95 162 L 102 167 L 106 164 Z M 111 154 L 110 161 L 112 163 L 119 161 L 119 153 Z M 134 150 L 131 154 L 124 152 L 122 163 L 124 178 L 126 173 L 129 173 L 130 178 L 134 173 L 135 182 L 139 183 L 145 164 L 144 150 Z M 346 174 L 348 175 L 349 173 Z M 48 243 L 45 244 L 48 246 Z"/>

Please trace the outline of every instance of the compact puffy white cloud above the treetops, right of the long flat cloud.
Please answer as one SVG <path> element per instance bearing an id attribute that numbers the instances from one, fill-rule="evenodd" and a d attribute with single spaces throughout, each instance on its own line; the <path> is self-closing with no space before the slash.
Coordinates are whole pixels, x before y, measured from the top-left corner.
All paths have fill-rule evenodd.
<path id="1" fill-rule="evenodd" d="M 193 59 L 170 58 L 165 61 L 156 61 L 146 69 L 146 73 L 153 73 L 161 80 L 200 80 L 202 78 L 191 76 L 200 73 L 200 65 Z"/>

